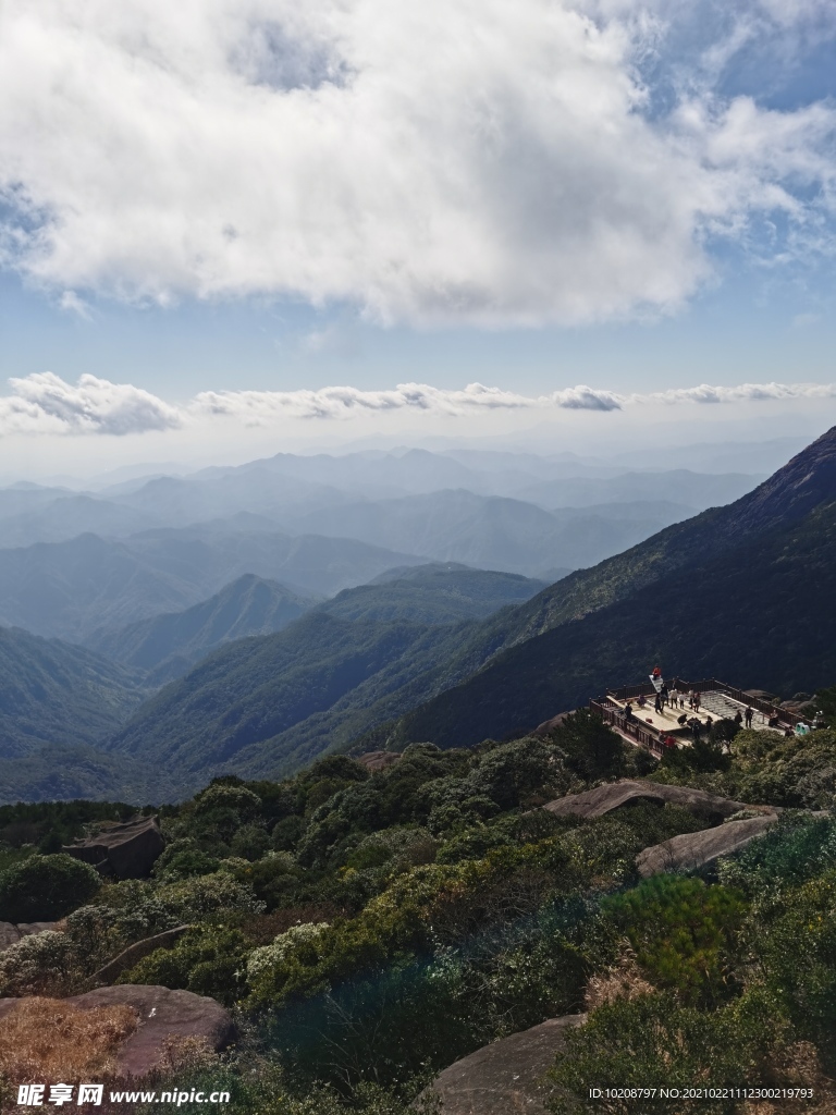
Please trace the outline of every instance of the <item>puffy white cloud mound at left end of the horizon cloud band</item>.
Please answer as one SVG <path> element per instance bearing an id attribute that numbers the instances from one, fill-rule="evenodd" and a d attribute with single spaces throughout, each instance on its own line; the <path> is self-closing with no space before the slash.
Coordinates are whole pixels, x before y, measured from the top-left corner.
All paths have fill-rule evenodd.
<path id="1" fill-rule="evenodd" d="M 51 371 L 10 380 L 0 398 L 2 434 L 137 434 L 176 429 L 176 407 L 130 384 L 81 376 L 75 387 Z"/>

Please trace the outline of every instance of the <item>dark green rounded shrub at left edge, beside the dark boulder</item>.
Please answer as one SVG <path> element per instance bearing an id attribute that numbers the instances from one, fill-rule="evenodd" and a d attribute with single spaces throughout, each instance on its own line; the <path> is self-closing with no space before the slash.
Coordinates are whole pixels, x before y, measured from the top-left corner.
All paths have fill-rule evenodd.
<path id="1" fill-rule="evenodd" d="M 32 855 L 0 874 L 0 921 L 55 921 L 101 886 L 88 863 L 71 855 Z"/>

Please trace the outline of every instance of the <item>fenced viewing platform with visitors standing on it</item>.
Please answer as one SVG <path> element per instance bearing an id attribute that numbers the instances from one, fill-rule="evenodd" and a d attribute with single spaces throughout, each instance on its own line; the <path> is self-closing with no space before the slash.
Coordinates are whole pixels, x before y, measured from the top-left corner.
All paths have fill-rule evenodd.
<path id="1" fill-rule="evenodd" d="M 665 737 L 678 746 L 690 746 L 693 740 L 694 719 L 708 730 L 712 724 L 735 720 L 738 712 L 745 717 L 746 709 L 751 708 L 752 729 L 777 731 L 781 735 L 787 729 L 795 730 L 796 725 L 804 723 L 804 717 L 716 678 L 701 681 L 674 678 L 668 682 L 668 687 L 671 691 L 677 689 L 677 706 L 674 708 L 669 700 L 665 700 L 661 714 L 654 708 L 657 690 L 650 679 L 635 686 L 607 689 L 603 697 L 595 697 L 590 701 L 590 708 L 599 712 L 628 743 L 647 747 L 657 756 L 664 752 Z M 700 695 L 699 709 L 694 710 L 689 705 L 689 694 Z M 640 704 L 642 698 L 643 707 Z M 628 705 L 632 708 L 632 716 L 628 715 Z M 687 719 L 680 724 L 682 716 Z"/>

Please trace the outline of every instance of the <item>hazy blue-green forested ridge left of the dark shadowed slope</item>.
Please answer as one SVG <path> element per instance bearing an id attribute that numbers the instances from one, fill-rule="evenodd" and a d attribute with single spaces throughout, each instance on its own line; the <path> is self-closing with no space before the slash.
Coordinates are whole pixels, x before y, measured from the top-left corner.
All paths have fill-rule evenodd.
<path id="1" fill-rule="evenodd" d="M 224 647 L 149 700 L 108 745 L 191 788 L 213 773 L 293 770 L 445 683 L 470 619 L 537 582 L 426 566 L 347 590 L 275 636 Z"/>

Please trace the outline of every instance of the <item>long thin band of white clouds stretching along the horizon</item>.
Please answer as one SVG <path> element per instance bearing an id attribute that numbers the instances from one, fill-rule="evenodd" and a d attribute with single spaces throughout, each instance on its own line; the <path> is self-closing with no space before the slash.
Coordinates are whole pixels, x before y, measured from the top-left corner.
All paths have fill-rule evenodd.
<path id="1" fill-rule="evenodd" d="M 399 384 L 390 390 L 322 387 L 295 391 L 201 391 L 175 406 L 130 384 L 81 376 L 71 385 L 52 372 L 10 380 L 0 397 L 0 436 L 111 435 L 178 430 L 212 420 L 269 427 L 282 420 L 340 421 L 360 415 L 412 413 L 466 418 L 489 411 L 619 411 L 636 406 L 747 404 L 766 400 L 836 399 L 836 384 L 701 384 L 649 394 L 622 395 L 579 385 L 548 395 L 526 396 L 483 384 L 449 390 L 427 384 Z"/>

